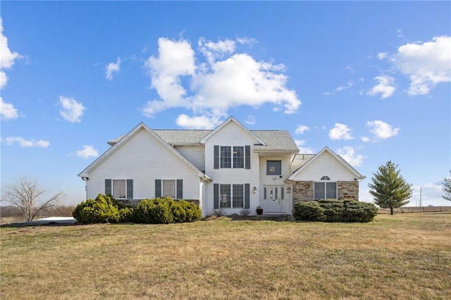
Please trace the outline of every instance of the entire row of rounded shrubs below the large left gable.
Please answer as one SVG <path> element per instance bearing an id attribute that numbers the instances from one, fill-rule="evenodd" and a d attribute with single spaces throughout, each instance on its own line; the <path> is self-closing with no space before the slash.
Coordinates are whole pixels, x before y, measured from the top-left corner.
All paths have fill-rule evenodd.
<path id="1" fill-rule="evenodd" d="M 80 223 L 149 223 L 168 224 L 194 222 L 202 218 L 199 206 L 171 198 L 145 199 L 137 206 L 125 206 L 110 195 L 99 194 L 87 199 L 73 211 Z"/>

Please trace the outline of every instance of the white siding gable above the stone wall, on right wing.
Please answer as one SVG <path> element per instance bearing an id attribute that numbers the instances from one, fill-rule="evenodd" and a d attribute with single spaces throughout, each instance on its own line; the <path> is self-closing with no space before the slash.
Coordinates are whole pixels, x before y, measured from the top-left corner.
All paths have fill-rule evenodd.
<path id="1" fill-rule="evenodd" d="M 332 154 L 324 151 L 309 165 L 304 165 L 302 171 L 292 175 L 290 179 L 296 181 L 320 181 L 323 176 L 328 176 L 330 181 L 353 181 L 356 177 L 349 168 L 346 168 Z"/>

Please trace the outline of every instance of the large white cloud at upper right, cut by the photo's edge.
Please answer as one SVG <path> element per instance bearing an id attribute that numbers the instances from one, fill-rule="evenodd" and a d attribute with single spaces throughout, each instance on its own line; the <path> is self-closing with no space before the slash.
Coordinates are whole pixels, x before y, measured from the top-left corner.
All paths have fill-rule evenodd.
<path id="1" fill-rule="evenodd" d="M 451 82 L 451 37 L 433 37 L 429 42 L 405 44 L 393 56 L 393 65 L 409 76 L 411 95 L 428 94 L 438 83 Z"/>

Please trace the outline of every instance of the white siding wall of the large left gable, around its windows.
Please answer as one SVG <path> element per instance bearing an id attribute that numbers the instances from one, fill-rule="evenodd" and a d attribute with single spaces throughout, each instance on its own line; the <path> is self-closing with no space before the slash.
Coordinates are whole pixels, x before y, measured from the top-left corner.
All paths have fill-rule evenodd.
<path id="1" fill-rule="evenodd" d="M 183 180 L 183 198 L 199 199 L 198 173 L 142 128 L 89 172 L 87 197 L 105 193 L 105 179 L 133 180 L 133 199 L 155 196 L 155 180 Z"/>

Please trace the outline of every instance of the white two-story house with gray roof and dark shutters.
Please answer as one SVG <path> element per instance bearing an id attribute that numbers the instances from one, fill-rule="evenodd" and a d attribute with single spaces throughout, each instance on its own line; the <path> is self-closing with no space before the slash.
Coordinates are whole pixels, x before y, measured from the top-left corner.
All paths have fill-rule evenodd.
<path id="1" fill-rule="evenodd" d="M 358 199 L 357 170 L 330 149 L 298 154 L 286 130 L 248 130 L 230 117 L 214 130 L 152 130 L 140 123 L 109 142 L 78 175 L 87 198 L 112 194 L 125 203 L 169 196 L 194 201 L 202 215 L 256 208 L 290 214 L 293 203 Z"/>

